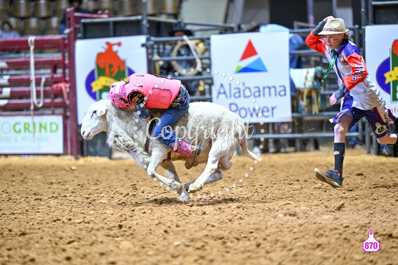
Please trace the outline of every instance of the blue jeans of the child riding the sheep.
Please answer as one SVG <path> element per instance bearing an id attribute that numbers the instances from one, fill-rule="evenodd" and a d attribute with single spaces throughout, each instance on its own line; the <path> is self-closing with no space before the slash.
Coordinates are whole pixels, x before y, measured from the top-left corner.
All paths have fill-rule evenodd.
<path id="1" fill-rule="evenodd" d="M 156 123 L 154 128 L 154 136 L 164 142 L 167 147 L 172 147 L 177 135 L 172 131 L 171 127 L 178 121 L 181 116 L 189 109 L 189 96 L 182 105 L 175 108 L 168 108 L 162 114 L 160 120 Z"/>

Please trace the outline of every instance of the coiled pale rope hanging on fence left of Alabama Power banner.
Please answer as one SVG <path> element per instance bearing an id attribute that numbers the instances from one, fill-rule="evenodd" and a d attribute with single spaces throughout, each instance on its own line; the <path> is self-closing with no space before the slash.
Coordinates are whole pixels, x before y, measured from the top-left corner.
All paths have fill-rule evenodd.
<path id="1" fill-rule="evenodd" d="M 182 66 L 180 66 L 180 64 L 178 64 L 177 61 L 172 61 L 172 66 L 174 68 L 174 70 L 176 70 L 180 75 L 185 75 L 185 76 L 192 76 L 192 75 L 196 75 L 199 73 L 199 71 L 202 69 L 202 60 L 200 60 L 198 53 L 201 54 L 202 51 L 201 49 L 198 47 L 198 45 L 196 45 L 195 42 L 193 42 L 192 40 L 189 40 L 189 38 L 187 36 L 183 36 L 184 40 L 183 41 L 179 41 L 177 43 L 177 45 L 174 47 L 172 53 L 170 54 L 172 57 L 176 57 L 178 54 L 178 49 L 180 49 L 180 47 L 183 47 L 184 45 L 188 45 L 189 49 L 191 49 L 192 54 L 194 55 L 195 58 L 195 64 L 192 66 L 192 68 L 194 68 L 193 71 L 191 71 L 191 69 L 185 69 Z"/>

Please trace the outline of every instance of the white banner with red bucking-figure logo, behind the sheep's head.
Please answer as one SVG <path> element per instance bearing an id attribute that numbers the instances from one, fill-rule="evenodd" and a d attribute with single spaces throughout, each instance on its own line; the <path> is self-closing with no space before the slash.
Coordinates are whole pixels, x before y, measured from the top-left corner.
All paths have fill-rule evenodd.
<path id="1" fill-rule="evenodd" d="M 78 123 L 82 124 L 89 105 L 108 99 L 109 86 L 136 72 L 148 72 L 145 36 L 78 40 L 76 89 Z"/>

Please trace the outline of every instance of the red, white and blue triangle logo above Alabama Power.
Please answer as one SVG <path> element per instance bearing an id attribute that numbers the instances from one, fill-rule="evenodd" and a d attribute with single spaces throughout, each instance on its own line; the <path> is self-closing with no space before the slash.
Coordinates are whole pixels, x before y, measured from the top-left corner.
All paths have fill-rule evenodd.
<path id="1" fill-rule="evenodd" d="M 246 48 L 239 60 L 239 64 L 235 68 L 235 73 L 253 73 L 253 72 L 267 72 L 264 62 L 261 60 L 251 40 L 248 41 Z"/>

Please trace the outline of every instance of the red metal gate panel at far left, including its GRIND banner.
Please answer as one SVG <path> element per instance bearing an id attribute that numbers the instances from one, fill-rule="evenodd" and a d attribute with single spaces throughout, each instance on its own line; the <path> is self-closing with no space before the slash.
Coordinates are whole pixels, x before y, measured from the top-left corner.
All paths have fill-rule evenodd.
<path id="1" fill-rule="evenodd" d="M 48 53 L 49 49 L 58 53 Z M 65 49 L 64 36 L 30 36 L 0 41 L 0 51 L 4 53 L 0 60 L 2 154 L 71 153 L 67 147 L 69 85 Z M 61 128 L 57 134 L 61 135 L 63 142 L 59 143 L 58 135 L 58 140 L 47 143 L 56 144 L 58 148 L 55 149 L 45 147 L 46 140 L 43 140 L 43 146 L 39 137 L 40 132 L 51 131 L 53 116 L 62 116 L 62 119 L 58 118 L 61 123 L 55 126 Z M 42 123 L 36 124 L 35 119 Z M 49 134 L 43 137 L 48 138 Z"/>

